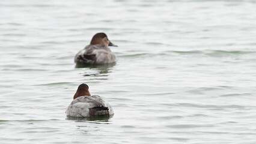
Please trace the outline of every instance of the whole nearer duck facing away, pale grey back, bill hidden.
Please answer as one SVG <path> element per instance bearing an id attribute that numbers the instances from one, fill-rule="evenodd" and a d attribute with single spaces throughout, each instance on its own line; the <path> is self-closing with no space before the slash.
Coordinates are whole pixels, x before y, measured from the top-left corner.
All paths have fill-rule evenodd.
<path id="1" fill-rule="evenodd" d="M 97 116 L 112 116 L 114 111 L 109 103 L 99 95 L 91 95 L 89 86 L 82 83 L 73 97 L 72 103 L 66 109 L 67 116 L 95 118 Z"/>

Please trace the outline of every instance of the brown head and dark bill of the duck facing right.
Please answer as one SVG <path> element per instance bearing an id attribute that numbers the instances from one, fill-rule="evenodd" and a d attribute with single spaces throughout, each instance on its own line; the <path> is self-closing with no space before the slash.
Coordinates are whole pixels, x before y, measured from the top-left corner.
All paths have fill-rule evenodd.
<path id="1" fill-rule="evenodd" d="M 114 44 L 111 43 L 111 41 L 108 40 L 108 36 L 103 32 L 95 34 L 93 36 L 93 38 L 91 39 L 90 44 L 101 44 L 105 47 L 115 46 Z M 117 46 L 115 46 L 115 47 L 117 47 Z"/>

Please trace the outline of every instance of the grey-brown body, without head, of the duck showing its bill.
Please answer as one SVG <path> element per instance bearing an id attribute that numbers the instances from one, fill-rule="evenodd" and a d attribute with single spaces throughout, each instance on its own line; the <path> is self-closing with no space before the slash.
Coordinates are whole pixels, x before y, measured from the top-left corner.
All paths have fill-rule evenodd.
<path id="1" fill-rule="evenodd" d="M 101 44 L 90 44 L 75 56 L 75 62 L 79 64 L 111 64 L 116 61 L 111 49 Z"/>

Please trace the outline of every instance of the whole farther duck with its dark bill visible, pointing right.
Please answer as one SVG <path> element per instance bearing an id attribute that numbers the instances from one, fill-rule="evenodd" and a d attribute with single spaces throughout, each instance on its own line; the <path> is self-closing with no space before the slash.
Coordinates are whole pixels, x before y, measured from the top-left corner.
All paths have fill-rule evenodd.
<path id="1" fill-rule="evenodd" d="M 117 58 L 108 46 L 117 47 L 117 45 L 109 41 L 105 33 L 99 32 L 95 34 L 90 44 L 76 54 L 75 63 L 102 65 L 116 62 Z"/>

